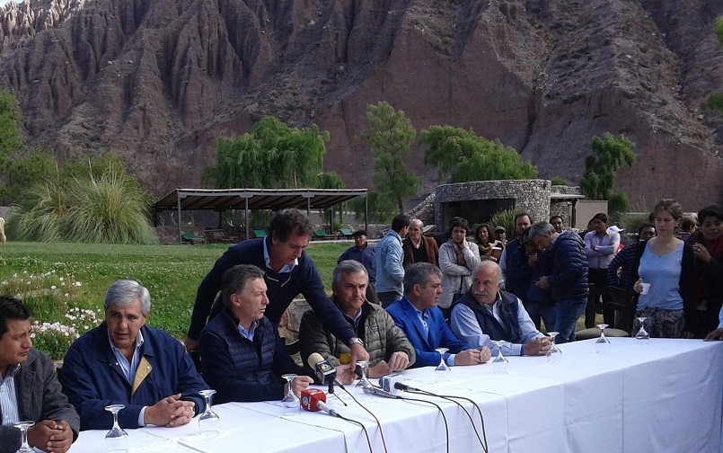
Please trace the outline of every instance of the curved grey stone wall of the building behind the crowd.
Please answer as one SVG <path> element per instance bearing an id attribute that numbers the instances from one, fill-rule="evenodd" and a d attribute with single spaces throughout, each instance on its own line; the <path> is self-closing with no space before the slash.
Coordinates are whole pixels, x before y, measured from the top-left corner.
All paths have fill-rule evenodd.
<path id="1" fill-rule="evenodd" d="M 557 186 L 556 186 L 557 187 Z M 551 182 L 547 180 L 478 181 L 443 184 L 436 188 L 435 224 L 441 229 L 442 205 L 452 201 L 514 199 L 515 208 L 535 219 L 550 218 Z"/>

